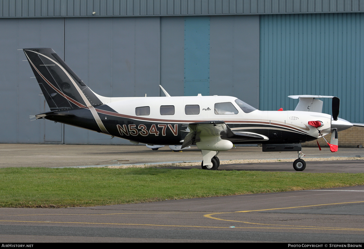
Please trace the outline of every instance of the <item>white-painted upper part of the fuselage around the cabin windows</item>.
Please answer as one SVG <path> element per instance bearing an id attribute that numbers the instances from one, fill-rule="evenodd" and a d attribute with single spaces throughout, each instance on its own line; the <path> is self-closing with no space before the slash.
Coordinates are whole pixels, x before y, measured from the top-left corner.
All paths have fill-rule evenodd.
<path id="1" fill-rule="evenodd" d="M 319 129 L 321 134 L 327 135 L 331 132 L 331 115 L 320 112 L 306 111 L 260 111 L 255 110 L 245 113 L 235 103 L 236 97 L 232 96 L 175 96 L 175 97 L 126 97 L 107 98 L 97 95 L 99 99 L 114 109 L 119 114 L 128 116 L 135 120 L 147 120 L 155 123 L 193 123 L 208 120 L 222 120 L 227 124 L 245 123 L 249 127 L 235 127 L 232 130 L 249 129 L 270 129 L 286 130 L 293 133 L 307 134 L 312 137 L 321 137 L 318 130 L 308 125 L 308 121 L 321 121 L 323 126 Z M 238 110 L 237 114 L 215 114 L 215 103 L 230 102 Z M 185 114 L 185 106 L 198 104 L 200 113 L 195 115 Z M 163 105 L 173 105 L 174 115 L 161 115 L 160 107 Z M 150 114 L 136 116 L 135 108 L 149 106 Z M 97 107 L 96 107 L 96 111 Z M 270 127 L 257 127 L 256 125 L 270 125 Z M 273 126 L 273 127 L 272 127 Z"/>

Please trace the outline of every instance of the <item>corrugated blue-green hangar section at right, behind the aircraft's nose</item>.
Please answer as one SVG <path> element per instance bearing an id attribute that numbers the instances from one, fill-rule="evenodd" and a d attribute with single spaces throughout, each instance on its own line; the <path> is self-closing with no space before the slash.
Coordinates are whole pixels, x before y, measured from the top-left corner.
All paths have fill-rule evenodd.
<path id="1" fill-rule="evenodd" d="M 260 109 L 294 110 L 298 94 L 338 96 L 340 117 L 364 122 L 364 13 L 261 15 Z"/>

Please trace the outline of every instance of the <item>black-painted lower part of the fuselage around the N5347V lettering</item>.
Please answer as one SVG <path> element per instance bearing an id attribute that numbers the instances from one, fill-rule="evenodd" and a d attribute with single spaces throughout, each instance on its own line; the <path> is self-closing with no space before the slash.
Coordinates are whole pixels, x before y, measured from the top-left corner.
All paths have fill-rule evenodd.
<path id="1" fill-rule="evenodd" d="M 106 106 L 106 105 L 103 105 L 103 106 Z M 103 107 L 103 106 L 100 106 L 100 107 Z M 98 107 L 98 108 L 100 108 L 100 107 Z M 58 113 L 60 115 L 57 115 Z M 113 135 L 114 137 L 124 138 L 124 139 L 128 139 L 131 141 L 139 142 L 139 143 L 146 143 L 146 144 L 153 144 L 153 145 L 181 145 L 180 141 L 182 141 L 185 138 L 185 136 L 188 134 L 188 131 L 186 131 L 186 129 L 188 127 L 187 123 L 181 124 L 181 123 L 168 123 L 168 122 L 148 122 L 148 121 L 144 121 L 144 120 L 143 121 L 135 120 L 135 119 L 117 117 L 117 116 L 112 116 L 112 115 L 107 115 L 107 114 L 100 114 L 100 113 L 99 113 L 99 116 L 100 116 L 100 119 L 102 120 L 104 126 L 106 127 L 107 131 L 111 135 Z M 52 112 L 52 114 L 48 114 L 44 118 L 52 120 L 52 121 L 56 121 L 56 122 L 65 123 L 67 125 L 73 125 L 73 126 L 81 127 L 81 128 L 88 129 L 88 130 L 101 132 L 94 117 L 91 114 L 91 111 L 86 108 L 76 108 L 76 109 L 67 110 L 67 111 L 63 110 L 63 111 L 59 111 L 59 112 Z M 173 134 L 173 132 L 170 129 L 168 129 L 168 127 L 165 132 L 166 135 L 163 136 L 162 135 L 163 128 L 158 127 L 158 124 L 166 124 L 166 125 L 170 124 L 173 127 L 174 127 L 174 125 L 178 125 L 177 136 L 175 136 Z M 151 129 L 152 125 L 155 125 L 159 134 L 155 135 L 153 133 L 152 134 L 149 133 L 147 136 L 143 136 L 140 133 L 138 133 L 138 135 L 133 136 L 130 134 L 130 131 L 129 131 L 129 135 L 125 135 L 123 133 L 122 133 L 123 135 L 121 135 L 117 129 L 117 125 L 120 125 L 120 126 L 126 125 L 127 127 L 128 127 L 128 125 L 135 125 L 136 127 L 138 127 L 139 125 L 145 125 L 147 127 L 148 131 Z M 248 131 L 248 132 L 262 134 L 262 135 L 265 135 L 266 137 L 269 137 L 268 141 L 257 141 L 256 139 L 252 139 L 252 141 L 249 141 L 248 139 L 238 140 L 238 138 L 223 137 L 223 139 L 230 140 L 234 144 L 256 144 L 256 143 L 288 144 L 288 143 L 300 143 L 302 141 L 313 141 L 316 139 L 309 135 L 298 134 L 298 133 L 293 134 L 292 131 L 281 131 L 281 130 L 273 130 L 273 129 L 270 130 L 269 127 L 274 128 L 274 126 L 269 126 L 269 125 L 261 125 L 262 129 L 249 129 L 249 130 L 244 130 L 243 126 L 246 124 L 240 124 L 240 123 L 229 124 L 229 123 L 227 123 L 227 125 L 230 128 L 242 127 L 241 130 L 235 130 L 235 131 Z M 141 131 L 141 129 L 138 129 L 138 130 Z M 294 138 L 294 139 L 292 139 L 292 138 Z"/>

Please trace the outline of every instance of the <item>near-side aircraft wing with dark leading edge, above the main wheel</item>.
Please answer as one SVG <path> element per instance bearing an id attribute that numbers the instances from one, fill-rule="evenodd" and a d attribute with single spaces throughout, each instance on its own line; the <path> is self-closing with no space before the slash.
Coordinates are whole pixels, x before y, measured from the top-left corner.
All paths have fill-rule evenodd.
<path id="1" fill-rule="evenodd" d="M 260 134 L 232 131 L 225 122 L 219 120 L 190 123 L 188 127 L 190 132 L 183 140 L 181 148 L 200 142 L 200 137 L 214 137 L 218 135 L 220 135 L 222 139 L 229 140 L 231 142 L 268 140 L 267 137 Z"/>

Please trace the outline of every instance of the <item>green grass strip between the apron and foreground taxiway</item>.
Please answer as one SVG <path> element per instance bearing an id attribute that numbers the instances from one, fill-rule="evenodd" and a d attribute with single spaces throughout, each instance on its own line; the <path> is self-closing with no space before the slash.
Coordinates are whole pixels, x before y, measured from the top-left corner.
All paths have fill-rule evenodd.
<path id="1" fill-rule="evenodd" d="M 364 185 L 364 174 L 199 169 L 0 169 L 0 207 L 78 207 Z"/>

